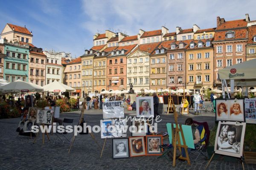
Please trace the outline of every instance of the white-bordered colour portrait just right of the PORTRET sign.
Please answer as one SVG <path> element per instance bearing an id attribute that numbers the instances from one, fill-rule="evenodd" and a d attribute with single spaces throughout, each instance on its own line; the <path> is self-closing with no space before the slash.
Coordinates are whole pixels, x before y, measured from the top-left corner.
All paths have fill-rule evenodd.
<path id="1" fill-rule="evenodd" d="M 153 97 L 137 97 L 136 98 L 136 116 L 137 118 L 154 117 L 154 103 Z"/>

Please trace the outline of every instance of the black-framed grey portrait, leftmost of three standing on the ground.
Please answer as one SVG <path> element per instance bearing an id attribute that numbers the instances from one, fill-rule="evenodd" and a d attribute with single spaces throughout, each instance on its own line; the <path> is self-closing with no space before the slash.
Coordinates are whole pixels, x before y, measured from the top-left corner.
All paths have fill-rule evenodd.
<path id="1" fill-rule="evenodd" d="M 129 142 L 128 138 L 113 138 L 112 139 L 113 159 L 129 158 Z"/>

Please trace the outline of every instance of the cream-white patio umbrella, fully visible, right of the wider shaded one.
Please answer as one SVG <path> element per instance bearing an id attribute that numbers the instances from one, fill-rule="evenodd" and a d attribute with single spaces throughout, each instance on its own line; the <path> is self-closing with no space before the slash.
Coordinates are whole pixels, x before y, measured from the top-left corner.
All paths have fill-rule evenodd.
<path id="1" fill-rule="evenodd" d="M 43 86 L 43 88 L 44 92 L 76 92 L 76 89 L 73 89 L 72 87 L 62 84 L 56 80 Z"/>

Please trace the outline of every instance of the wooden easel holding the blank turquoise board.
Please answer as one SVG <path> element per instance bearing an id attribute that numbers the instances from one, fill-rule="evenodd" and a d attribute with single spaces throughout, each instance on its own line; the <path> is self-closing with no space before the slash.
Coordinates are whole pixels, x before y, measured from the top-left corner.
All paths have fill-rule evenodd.
<path id="1" fill-rule="evenodd" d="M 173 144 L 172 167 L 176 166 L 176 149 L 177 149 L 177 147 L 180 150 L 180 152 L 181 152 L 181 147 L 184 148 L 185 153 L 186 153 L 186 157 L 180 156 L 179 158 L 188 161 L 188 164 L 190 165 L 188 147 L 186 145 L 186 141 L 185 141 L 185 138 L 184 138 L 184 134 L 183 134 L 181 124 L 178 124 L 178 120 L 177 120 L 178 115 L 177 115 L 177 112 L 176 112 L 175 104 L 173 104 L 172 106 L 173 106 L 173 109 L 174 109 L 174 120 L 175 120 L 175 125 L 176 125 L 176 127 L 174 127 L 173 124 L 172 124 L 172 144 Z M 180 143 L 180 134 L 181 134 L 181 138 L 182 138 L 182 141 L 183 141 L 183 145 L 181 145 L 181 143 Z"/>

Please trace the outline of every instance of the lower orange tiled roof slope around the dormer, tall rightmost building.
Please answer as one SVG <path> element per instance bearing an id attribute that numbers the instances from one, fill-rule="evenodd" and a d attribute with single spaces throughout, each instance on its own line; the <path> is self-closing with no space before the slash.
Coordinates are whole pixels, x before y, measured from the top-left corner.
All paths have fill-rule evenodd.
<path id="1" fill-rule="evenodd" d="M 240 39 L 240 38 L 247 38 L 247 29 L 233 29 L 233 32 L 235 32 L 235 37 L 233 38 L 226 38 L 226 33 L 228 32 L 227 30 L 224 31 L 217 31 L 215 32 L 214 35 L 214 41 L 219 41 L 219 40 L 234 40 L 234 39 Z"/>

